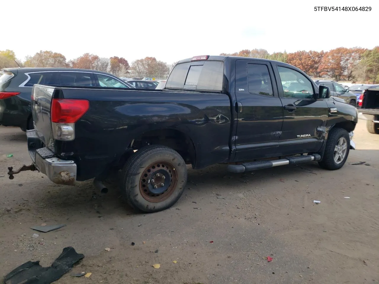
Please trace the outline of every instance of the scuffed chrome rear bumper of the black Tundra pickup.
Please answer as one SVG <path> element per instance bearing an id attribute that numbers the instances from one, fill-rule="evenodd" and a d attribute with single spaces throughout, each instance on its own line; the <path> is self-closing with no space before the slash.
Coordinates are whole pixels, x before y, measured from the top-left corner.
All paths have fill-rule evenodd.
<path id="1" fill-rule="evenodd" d="M 28 151 L 34 166 L 56 184 L 74 186 L 77 177 L 75 161 L 62 160 L 43 147 L 35 130 L 27 131 Z"/>

